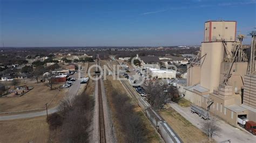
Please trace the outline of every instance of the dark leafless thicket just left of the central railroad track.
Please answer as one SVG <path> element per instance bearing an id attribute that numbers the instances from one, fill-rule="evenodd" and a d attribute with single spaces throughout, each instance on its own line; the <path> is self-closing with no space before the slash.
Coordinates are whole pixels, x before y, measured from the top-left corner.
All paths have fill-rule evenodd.
<path id="1" fill-rule="evenodd" d="M 94 99 L 83 94 L 78 95 L 71 104 L 66 96 L 59 105 L 58 112 L 49 116 L 49 128 L 55 132 L 55 140 L 60 142 L 89 142 Z M 55 141 L 53 141 L 55 142 Z"/>

